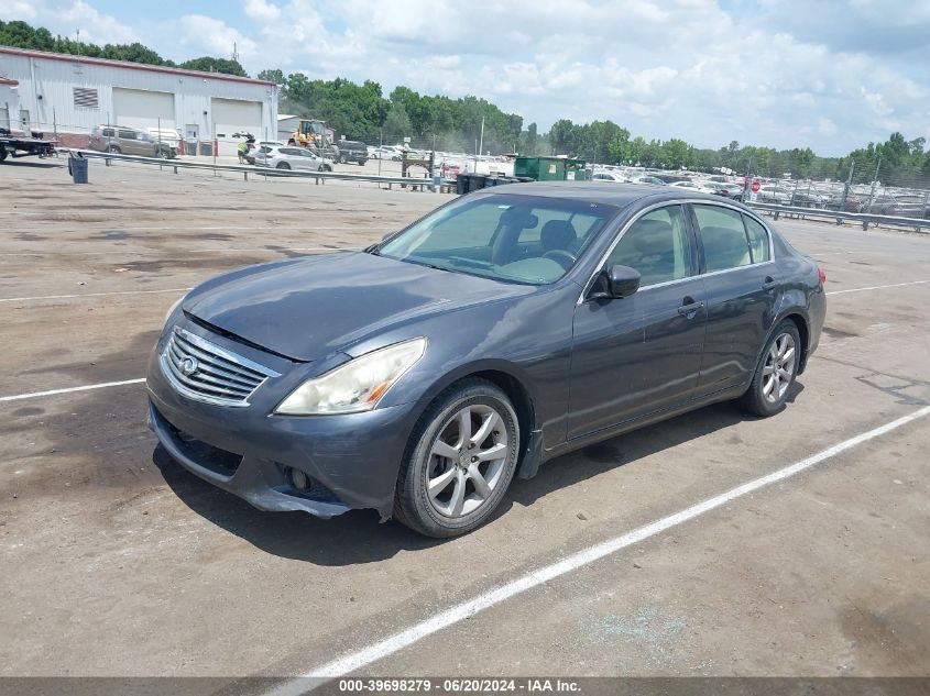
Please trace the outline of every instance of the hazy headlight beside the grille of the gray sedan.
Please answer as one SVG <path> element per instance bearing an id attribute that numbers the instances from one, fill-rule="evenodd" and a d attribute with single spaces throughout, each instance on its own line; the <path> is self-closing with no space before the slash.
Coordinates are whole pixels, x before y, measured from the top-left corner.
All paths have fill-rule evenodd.
<path id="1" fill-rule="evenodd" d="M 275 409 L 287 416 L 325 416 L 370 411 L 426 352 L 426 339 L 373 351 L 308 379 Z"/>

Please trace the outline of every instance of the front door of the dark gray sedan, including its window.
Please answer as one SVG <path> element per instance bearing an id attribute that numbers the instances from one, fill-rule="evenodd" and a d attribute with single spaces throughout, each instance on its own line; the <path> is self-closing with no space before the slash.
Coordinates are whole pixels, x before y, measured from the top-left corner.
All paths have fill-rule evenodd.
<path id="1" fill-rule="evenodd" d="M 681 404 L 698 384 L 705 298 L 681 206 L 628 227 L 604 268 L 613 265 L 638 270 L 641 289 L 576 309 L 569 439 Z"/>

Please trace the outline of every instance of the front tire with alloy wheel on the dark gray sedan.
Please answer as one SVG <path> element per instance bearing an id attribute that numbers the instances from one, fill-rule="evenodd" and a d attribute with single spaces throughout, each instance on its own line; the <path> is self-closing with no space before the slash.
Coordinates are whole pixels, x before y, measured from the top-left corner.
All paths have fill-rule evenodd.
<path id="1" fill-rule="evenodd" d="M 397 476 L 394 517 L 427 537 L 466 534 L 491 518 L 513 479 L 519 453 L 516 412 L 490 382 L 464 379 L 423 415 L 407 453 Z M 488 459 L 479 461 L 482 454 Z"/>

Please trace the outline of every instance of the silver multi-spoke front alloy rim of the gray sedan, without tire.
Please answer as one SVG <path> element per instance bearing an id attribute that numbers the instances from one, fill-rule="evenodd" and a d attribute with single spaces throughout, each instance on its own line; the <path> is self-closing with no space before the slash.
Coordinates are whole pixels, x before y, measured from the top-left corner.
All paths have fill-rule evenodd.
<path id="1" fill-rule="evenodd" d="M 507 429 L 491 406 L 457 411 L 439 431 L 427 462 L 433 508 L 459 518 L 484 505 L 501 483 L 508 454 Z"/>

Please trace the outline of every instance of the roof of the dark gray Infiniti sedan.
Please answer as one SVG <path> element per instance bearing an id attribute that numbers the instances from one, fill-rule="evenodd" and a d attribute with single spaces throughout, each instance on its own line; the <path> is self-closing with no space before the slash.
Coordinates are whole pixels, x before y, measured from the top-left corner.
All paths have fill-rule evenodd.
<path id="1" fill-rule="evenodd" d="M 517 196 L 538 196 L 540 198 L 565 198 L 625 208 L 644 198 L 652 202 L 664 200 L 708 200 L 721 203 L 720 196 L 702 194 L 696 190 L 682 191 L 681 187 L 658 186 L 656 184 L 622 184 L 616 181 L 526 181 L 523 184 L 505 184 L 491 189 L 481 189 L 488 194 L 507 194 Z M 725 199 L 727 205 L 733 203 Z"/>

